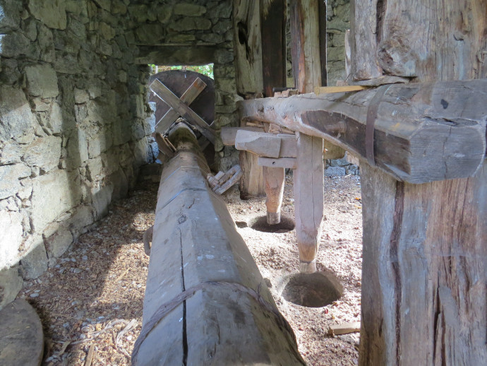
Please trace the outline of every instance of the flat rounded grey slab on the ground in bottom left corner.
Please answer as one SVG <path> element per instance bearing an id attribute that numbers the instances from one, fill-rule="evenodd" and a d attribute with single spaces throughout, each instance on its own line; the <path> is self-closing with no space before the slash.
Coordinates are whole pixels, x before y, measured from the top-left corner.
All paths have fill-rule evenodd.
<path id="1" fill-rule="evenodd" d="M 0 324 L 0 365 L 40 365 L 44 334 L 35 309 L 17 299 L 0 310 Z"/>

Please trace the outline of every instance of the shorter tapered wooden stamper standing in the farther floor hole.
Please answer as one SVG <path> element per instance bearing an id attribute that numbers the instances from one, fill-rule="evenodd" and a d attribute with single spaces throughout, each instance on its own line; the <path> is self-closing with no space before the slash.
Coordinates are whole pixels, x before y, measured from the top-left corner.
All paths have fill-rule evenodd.
<path id="1" fill-rule="evenodd" d="M 267 223 L 275 225 L 281 222 L 281 204 L 284 194 L 284 168 L 263 167 L 265 182 L 265 206 Z"/>

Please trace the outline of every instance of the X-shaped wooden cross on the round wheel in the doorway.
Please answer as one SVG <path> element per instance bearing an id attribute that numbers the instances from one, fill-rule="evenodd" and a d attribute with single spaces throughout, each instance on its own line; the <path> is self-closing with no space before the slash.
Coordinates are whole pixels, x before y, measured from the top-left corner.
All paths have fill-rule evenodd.
<path id="1" fill-rule="evenodd" d="M 164 114 L 159 122 L 157 122 L 155 132 L 164 134 L 176 119 L 183 117 L 198 129 L 203 136 L 208 138 L 211 143 L 215 144 L 215 131 L 208 126 L 203 118 L 189 107 L 191 102 L 200 95 L 205 87 L 206 84 L 200 78 L 196 78 L 189 88 L 186 89 L 184 94 L 181 95 L 181 98 L 178 98 L 166 85 L 155 79 L 155 81 L 150 84 L 150 90 L 170 107 L 166 114 Z"/>

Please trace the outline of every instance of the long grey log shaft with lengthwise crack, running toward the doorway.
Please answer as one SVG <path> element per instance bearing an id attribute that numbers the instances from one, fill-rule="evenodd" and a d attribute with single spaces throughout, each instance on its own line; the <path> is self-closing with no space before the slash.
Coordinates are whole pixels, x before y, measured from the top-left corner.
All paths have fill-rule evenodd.
<path id="1" fill-rule="evenodd" d="M 187 128 L 169 136 L 133 365 L 304 365 Z M 167 310 L 169 309 L 169 311 Z"/>

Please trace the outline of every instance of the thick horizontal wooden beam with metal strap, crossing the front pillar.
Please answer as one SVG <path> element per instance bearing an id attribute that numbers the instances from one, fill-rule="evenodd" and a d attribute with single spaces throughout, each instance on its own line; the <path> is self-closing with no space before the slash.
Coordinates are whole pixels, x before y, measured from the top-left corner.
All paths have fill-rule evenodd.
<path id="1" fill-rule="evenodd" d="M 474 175 L 486 155 L 487 79 L 385 88 L 375 103 L 375 165 L 415 184 Z M 325 138 L 366 158 L 367 114 L 376 93 L 311 93 L 238 104 L 244 121 Z"/>

